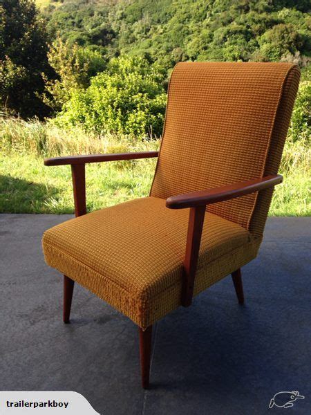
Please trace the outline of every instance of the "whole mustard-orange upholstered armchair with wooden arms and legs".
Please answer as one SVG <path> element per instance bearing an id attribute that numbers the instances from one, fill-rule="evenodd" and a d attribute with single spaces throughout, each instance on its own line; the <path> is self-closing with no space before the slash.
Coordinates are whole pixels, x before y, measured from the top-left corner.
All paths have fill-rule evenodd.
<path id="1" fill-rule="evenodd" d="M 263 237 L 299 68 L 288 63 L 180 63 L 169 84 L 160 152 L 50 158 L 71 165 L 75 215 L 43 237 L 64 274 L 64 322 L 73 284 L 88 288 L 140 330 L 149 385 L 152 324 L 241 267 Z M 86 214 L 85 165 L 157 157 L 148 197 Z"/>

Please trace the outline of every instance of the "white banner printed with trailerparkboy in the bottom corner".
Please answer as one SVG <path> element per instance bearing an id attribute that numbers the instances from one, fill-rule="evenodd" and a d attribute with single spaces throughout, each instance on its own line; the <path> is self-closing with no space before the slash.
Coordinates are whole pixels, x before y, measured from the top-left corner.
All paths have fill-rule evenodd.
<path id="1" fill-rule="evenodd" d="M 1 415 L 100 415 L 73 391 L 0 391 Z"/>

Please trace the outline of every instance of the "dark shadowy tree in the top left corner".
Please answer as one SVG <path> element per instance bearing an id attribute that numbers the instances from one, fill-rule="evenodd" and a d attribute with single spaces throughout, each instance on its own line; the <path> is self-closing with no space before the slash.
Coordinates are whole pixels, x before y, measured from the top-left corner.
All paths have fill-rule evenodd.
<path id="1" fill-rule="evenodd" d="M 42 72 L 52 75 L 44 21 L 32 0 L 0 0 L 0 105 L 23 117 L 45 116 Z"/>

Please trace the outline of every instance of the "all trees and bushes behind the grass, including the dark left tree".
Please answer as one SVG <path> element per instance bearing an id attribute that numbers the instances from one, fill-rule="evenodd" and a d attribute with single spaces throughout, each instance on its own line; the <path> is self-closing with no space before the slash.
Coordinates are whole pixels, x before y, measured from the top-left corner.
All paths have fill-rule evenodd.
<path id="1" fill-rule="evenodd" d="M 0 0 L 1 105 L 26 117 L 50 109 L 58 125 L 87 131 L 159 136 L 176 62 L 308 66 L 309 8 L 309 0 L 62 0 L 39 17 L 32 0 Z M 310 131 L 308 74 L 296 137 Z"/>

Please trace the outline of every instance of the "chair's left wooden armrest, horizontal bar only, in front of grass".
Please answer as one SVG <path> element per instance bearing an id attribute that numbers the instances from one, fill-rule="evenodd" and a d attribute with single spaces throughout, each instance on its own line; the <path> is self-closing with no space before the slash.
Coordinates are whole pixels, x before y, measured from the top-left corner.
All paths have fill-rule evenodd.
<path id="1" fill-rule="evenodd" d="M 66 156 L 45 158 L 46 166 L 83 165 L 86 163 L 100 163 L 102 161 L 133 160 L 136 158 L 158 157 L 159 151 L 141 151 L 140 153 L 120 154 L 86 154 L 84 156 Z"/>

